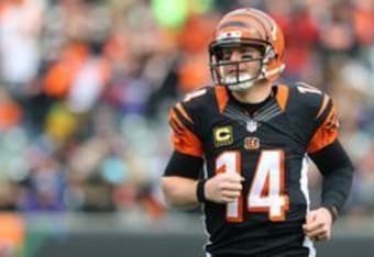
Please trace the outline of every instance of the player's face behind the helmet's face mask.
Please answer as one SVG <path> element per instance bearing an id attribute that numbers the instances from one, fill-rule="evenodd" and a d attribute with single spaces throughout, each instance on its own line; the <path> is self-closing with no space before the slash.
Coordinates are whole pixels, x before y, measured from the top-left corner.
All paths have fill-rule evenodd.
<path id="1" fill-rule="evenodd" d="M 262 53 L 252 46 L 231 47 L 222 49 L 222 75 L 229 83 L 256 78 L 261 69 Z"/>

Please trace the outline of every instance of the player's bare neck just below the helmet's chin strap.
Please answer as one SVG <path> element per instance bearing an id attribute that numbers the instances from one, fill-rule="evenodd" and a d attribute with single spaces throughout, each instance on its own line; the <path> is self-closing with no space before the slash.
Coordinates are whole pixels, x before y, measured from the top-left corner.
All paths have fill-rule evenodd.
<path id="1" fill-rule="evenodd" d="M 272 92 L 272 82 L 268 80 L 258 81 L 251 88 L 240 91 L 231 91 L 232 96 L 242 103 L 260 103 Z"/>

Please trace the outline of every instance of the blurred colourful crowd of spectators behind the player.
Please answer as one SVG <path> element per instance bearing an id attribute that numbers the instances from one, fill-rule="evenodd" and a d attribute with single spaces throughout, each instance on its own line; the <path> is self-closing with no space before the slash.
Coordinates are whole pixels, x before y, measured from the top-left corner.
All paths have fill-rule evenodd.
<path id="1" fill-rule="evenodd" d="M 207 45 L 238 7 L 284 30 L 280 82 L 336 99 L 346 213 L 374 213 L 373 0 L 1 0 L 0 210 L 163 215 L 168 108 L 211 85 Z"/>

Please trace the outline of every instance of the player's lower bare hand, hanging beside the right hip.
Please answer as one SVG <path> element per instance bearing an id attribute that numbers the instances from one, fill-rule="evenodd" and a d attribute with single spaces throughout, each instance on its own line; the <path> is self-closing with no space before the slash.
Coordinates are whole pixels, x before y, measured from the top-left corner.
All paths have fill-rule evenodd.
<path id="1" fill-rule="evenodd" d="M 314 241 L 328 241 L 331 237 L 332 215 L 326 208 L 311 211 L 302 225 L 304 233 Z"/>

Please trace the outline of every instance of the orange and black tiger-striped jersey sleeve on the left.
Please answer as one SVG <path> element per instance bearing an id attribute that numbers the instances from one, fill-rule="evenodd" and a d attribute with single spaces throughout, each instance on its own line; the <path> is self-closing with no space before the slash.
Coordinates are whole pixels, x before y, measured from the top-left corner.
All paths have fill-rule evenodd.
<path id="1" fill-rule="evenodd" d="M 194 115 L 186 110 L 183 103 L 178 102 L 169 111 L 174 149 L 184 155 L 202 157 L 202 143 L 197 133 L 197 125 L 193 120 Z"/>

